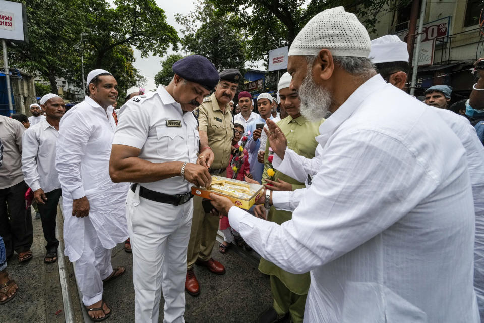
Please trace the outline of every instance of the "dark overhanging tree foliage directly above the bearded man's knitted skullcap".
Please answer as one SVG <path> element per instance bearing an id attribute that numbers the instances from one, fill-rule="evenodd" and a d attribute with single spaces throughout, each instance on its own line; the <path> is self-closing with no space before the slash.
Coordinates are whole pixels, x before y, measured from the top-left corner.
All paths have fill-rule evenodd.
<path id="1" fill-rule="evenodd" d="M 297 33 L 317 13 L 337 6 L 356 14 L 372 30 L 384 6 L 405 6 L 409 0 L 209 0 L 217 14 L 238 17 L 230 23 L 244 31 L 247 51 L 253 60 L 269 50 L 292 43 Z"/>

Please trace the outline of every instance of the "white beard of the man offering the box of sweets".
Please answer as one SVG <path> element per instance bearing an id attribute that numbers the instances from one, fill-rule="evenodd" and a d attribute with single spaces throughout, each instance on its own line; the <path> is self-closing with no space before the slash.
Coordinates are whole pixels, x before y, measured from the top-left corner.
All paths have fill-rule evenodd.
<path id="1" fill-rule="evenodd" d="M 300 113 L 306 119 L 319 121 L 331 115 L 329 112 L 333 100 L 331 93 L 314 82 L 310 69 L 306 73 L 298 93 L 301 100 Z"/>

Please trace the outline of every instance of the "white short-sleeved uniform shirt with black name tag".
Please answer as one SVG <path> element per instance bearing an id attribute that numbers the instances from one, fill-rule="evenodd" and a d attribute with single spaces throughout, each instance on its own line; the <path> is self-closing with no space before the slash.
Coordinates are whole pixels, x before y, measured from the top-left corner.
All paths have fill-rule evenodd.
<path id="1" fill-rule="evenodd" d="M 138 102 L 131 99 L 123 105 L 123 119 L 117 124 L 112 143 L 141 149 L 138 157 L 152 163 L 196 163 L 200 137 L 193 114 L 184 113 L 161 85 L 156 92 L 136 99 Z M 141 185 L 170 195 L 187 193 L 192 186 L 181 176 Z"/>

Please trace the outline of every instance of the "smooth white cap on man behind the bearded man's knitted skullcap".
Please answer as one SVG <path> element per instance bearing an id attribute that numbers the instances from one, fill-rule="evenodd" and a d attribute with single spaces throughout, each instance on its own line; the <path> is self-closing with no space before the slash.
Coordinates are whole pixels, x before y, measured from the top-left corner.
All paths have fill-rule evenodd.
<path id="1" fill-rule="evenodd" d="M 387 62 L 407 62 L 407 43 L 396 35 L 386 35 L 372 40 L 372 51 L 368 58 L 373 64 Z"/>

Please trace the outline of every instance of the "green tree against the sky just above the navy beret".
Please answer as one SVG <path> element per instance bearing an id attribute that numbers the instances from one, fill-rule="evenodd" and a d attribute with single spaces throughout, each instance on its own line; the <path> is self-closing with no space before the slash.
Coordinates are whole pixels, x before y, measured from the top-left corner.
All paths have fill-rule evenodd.
<path id="1" fill-rule="evenodd" d="M 208 1 L 194 3 L 195 10 L 186 16 L 175 15 L 183 27 L 181 44 L 185 51 L 203 55 L 220 71 L 227 68 L 244 69 L 245 40 L 240 29 L 231 23 L 237 17 L 217 12 Z"/>

